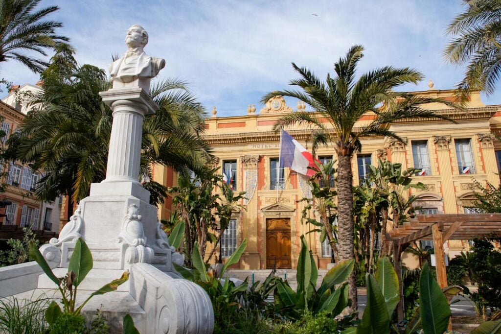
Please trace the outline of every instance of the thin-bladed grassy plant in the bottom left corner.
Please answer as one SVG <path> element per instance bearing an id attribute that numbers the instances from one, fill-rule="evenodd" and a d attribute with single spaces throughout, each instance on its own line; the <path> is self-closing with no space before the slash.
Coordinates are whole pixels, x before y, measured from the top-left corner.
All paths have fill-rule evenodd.
<path id="1" fill-rule="evenodd" d="M 18 300 L 16 297 L 0 299 L 0 332 L 11 334 L 42 334 L 47 330 L 46 298 Z"/>

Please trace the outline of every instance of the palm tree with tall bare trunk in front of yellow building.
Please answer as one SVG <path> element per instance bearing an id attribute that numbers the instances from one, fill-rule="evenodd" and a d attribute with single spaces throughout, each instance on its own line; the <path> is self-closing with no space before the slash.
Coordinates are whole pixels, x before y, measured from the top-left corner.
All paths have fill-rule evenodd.
<path id="1" fill-rule="evenodd" d="M 345 57 L 334 64 L 334 77 L 327 74 L 326 82 L 322 82 L 307 68 L 292 64 L 301 75 L 292 80 L 291 85 L 302 91 L 275 91 L 263 97 L 262 102 L 277 96 L 289 96 L 309 104 L 317 113 L 300 111 L 281 117 L 274 126 L 276 131 L 295 123 L 308 124 L 315 128 L 312 132 L 313 150 L 320 144 L 334 143 L 338 158 L 338 253 L 340 260 L 354 258 L 353 241 L 353 174 L 351 159 L 360 149 L 359 139 L 368 135 L 389 136 L 401 140 L 389 125 L 400 119 L 425 117 L 447 117 L 433 111 L 420 108 L 430 102 L 445 103 L 456 107 L 453 103 L 441 99 L 418 97 L 410 93 L 396 92 L 392 89 L 406 83 L 416 84 L 423 75 L 410 68 L 394 68 L 386 66 L 362 74 L 358 80 L 355 71 L 359 60 L 363 57 L 363 47 L 353 46 Z M 366 113 L 376 117 L 355 128 L 357 121 Z M 327 123 L 323 122 L 324 118 Z M 329 126 L 327 125 L 329 124 Z M 350 298 L 356 310 L 357 292 L 355 277 L 350 279 Z"/>

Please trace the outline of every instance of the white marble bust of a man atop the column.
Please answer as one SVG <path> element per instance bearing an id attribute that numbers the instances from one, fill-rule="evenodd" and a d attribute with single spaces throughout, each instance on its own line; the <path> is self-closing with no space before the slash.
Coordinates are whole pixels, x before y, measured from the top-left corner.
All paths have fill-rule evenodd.
<path id="1" fill-rule="evenodd" d="M 150 79 L 164 68 L 165 60 L 148 56 L 143 50 L 147 43 L 143 27 L 133 25 L 127 30 L 127 52 L 109 66 L 113 88 L 142 87 L 149 92 Z"/>

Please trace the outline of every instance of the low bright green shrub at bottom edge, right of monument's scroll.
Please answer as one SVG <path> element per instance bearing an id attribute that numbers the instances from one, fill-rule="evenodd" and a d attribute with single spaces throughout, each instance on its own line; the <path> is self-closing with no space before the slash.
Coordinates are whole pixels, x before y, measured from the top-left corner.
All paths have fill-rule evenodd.
<path id="1" fill-rule="evenodd" d="M 313 314 L 306 311 L 298 321 L 276 325 L 274 332 L 280 334 L 328 334 L 336 332 L 337 327 L 337 321 L 330 317 L 328 312 Z"/>

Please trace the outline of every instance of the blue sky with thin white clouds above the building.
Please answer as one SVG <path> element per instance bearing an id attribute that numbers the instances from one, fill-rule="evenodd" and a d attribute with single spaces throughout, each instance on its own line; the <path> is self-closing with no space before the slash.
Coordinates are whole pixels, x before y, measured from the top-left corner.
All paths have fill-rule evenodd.
<path id="1" fill-rule="evenodd" d="M 112 54 L 125 51 L 127 28 L 140 24 L 149 34 L 146 53 L 166 60 L 158 79 L 188 81 L 218 116 L 243 115 L 253 103 L 260 110 L 264 94 L 297 78 L 291 62 L 325 78 L 355 44 L 365 47 L 360 73 L 385 65 L 422 71 L 426 79 L 406 90 L 426 90 L 430 78 L 437 89 L 452 88 L 463 73 L 442 57 L 460 0 L 42 1 L 53 4 L 61 10 L 51 19 L 64 23 L 60 33 L 71 38 L 80 64 L 107 68 Z M 0 66 L 14 84 L 38 80 L 17 62 Z M 501 93 L 483 100 L 501 103 Z"/>

